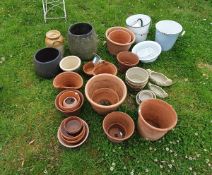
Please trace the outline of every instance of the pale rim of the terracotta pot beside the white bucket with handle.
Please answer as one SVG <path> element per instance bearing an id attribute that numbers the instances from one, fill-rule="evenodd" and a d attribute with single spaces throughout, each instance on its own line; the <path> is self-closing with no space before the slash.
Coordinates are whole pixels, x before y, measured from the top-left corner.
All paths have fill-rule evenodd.
<path id="1" fill-rule="evenodd" d="M 113 40 L 111 40 L 108 35 L 110 33 L 110 31 L 112 29 L 117 29 L 117 30 L 124 30 L 125 32 L 128 32 L 130 34 L 130 36 L 133 36 L 131 37 L 131 41 L 129 43 L 126 43 L 126 44 L 122 44 L 122 43 L 117 43 L 117 42 L 114 42 Z M 128 45 L 132 45 L 134 42 L 135 42 L 135 34 L 133 32 L 131 32 L 129 29 L 127 29 L 126 27 L 121 27 L 121 26 L 116 26 L 116 27 L 110 27 L 106 30 L 105 32 L 105 36 L 106 38 L 113 44 L 115 45 L 118 45 L 118 46 L 128 46 Z"/>

